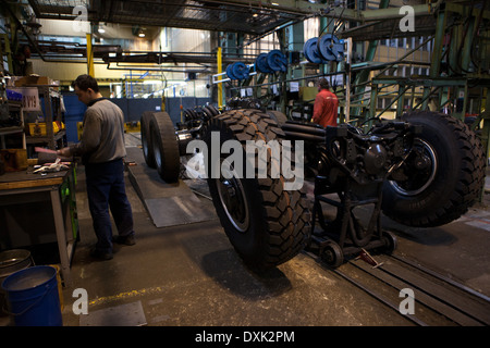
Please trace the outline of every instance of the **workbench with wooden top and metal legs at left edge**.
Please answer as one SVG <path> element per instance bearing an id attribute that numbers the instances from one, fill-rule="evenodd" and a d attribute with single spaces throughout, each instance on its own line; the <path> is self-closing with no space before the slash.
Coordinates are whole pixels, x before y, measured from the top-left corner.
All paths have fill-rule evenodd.
<path id="1" fill-rule="evenodd" d="M 0 175 L 2 240 L 11 248 L 28 239 L 32 244 L 42 243 L 54 238 L 54 229 L 65 286 L 71 282 L 70 265 L 78 239 L 75 181 L 73 165 L 68 171 L 45 175 L 32 173 L 32 167 Z"/>

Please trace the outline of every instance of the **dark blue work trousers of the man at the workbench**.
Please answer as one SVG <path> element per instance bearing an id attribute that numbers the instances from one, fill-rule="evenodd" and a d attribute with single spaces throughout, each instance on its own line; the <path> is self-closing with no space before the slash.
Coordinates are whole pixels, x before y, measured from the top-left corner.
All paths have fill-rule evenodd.
<path id="1" fill-rule="evenodd" d="M 127 200 L 123 160 L 85 165 L 88 207 L 97 236 L 96 249 L 112 252 L 112 224 L 109 208 L 118 233 L 122 237 L 134 234 L 133 211 Z"/>

